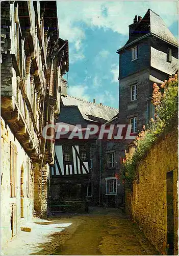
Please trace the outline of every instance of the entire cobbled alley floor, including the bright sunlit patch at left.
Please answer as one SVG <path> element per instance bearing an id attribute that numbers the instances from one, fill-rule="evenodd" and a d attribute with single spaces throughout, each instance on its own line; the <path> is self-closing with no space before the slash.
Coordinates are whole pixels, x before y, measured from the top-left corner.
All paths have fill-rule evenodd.
<path id="1" fill-rule="evenodd" d="M 54 225 L 54 231 L 52 227 Z M 63 230 L 57 228 L 65 227 Z M 42 230 L 37 234 L 37 230 Z M 44 236 L 44 230 L 49 230 Z M 59 232 L 60 231 L 60 232 Z M 154 246 L 137 225 L 117 208 L 89 209 L 88 214 L 50 217 L 36 222 L 31 233 L 23 232 L 12 241 L 8 255 L 157 255 Z M 36 238 L 31 242 L 30 237 Z M 25 239 L 24 237 L 27 237 Z M 21 243 L 19 243 L 19 239 Z M 39 243 L 38 243 L 39 241 Z M 13 247 L 16 248 L 13 252 Z M 15 254 L 14 254 L 15 253 Z"/>

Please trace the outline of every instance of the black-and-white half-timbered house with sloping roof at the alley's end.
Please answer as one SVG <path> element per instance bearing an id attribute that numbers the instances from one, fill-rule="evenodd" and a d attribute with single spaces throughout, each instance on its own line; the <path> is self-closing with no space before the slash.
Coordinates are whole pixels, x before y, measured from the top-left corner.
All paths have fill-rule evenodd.
<path id="1" fill-rule="evenodd" d="M 100 166 L 99 147 L 96 143 L 98 137 L 91 135 L 89 139 L 84 139 L 84 136 L 83 139 L 79 139 L 74 136 L 70 139 L 69 135 L 75 125 L 81 125 L 84 134 L 88 124 L 100 126 L 117 112 L 117 109 L 101 103 L 96 104 L 71 96 L 61 97 L 61 112 L 56 125 L 67 124 L 69 132 L 59 139 L 56 136 L 55 164 L 50 172 L 50 205 L 58 205 L 56 209 L 67 211 L 78 210 L 79 201 L 82 200 L 91 203 L 98 201 Z"/>

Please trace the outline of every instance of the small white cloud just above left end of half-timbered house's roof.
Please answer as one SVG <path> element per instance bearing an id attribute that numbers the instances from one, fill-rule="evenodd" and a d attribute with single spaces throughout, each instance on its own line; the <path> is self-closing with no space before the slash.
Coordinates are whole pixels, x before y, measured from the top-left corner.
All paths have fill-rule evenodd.
<path id="1" fill-rule="evenodd" d="M 69 95 L 81 98 L 85 100 L 89 100 L 90 96 L 88 95 L 88 87 L 84 84 L 79 84 L 77 86 L 70 86 L 69 87 Z"/>

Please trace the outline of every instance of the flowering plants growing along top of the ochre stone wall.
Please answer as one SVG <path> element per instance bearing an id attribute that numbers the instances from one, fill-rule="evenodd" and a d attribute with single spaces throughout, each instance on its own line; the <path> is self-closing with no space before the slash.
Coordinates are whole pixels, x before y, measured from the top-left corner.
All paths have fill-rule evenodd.
<path id="1" fill-rule="evenodd" d="M 137 164 L 162 134 L 171 131 L 172 127 L 177 125 L 178 75 L 175 74 L 165 80 L 160 87 L 154 83 L 153 89 L 152 102 L 155 105 L 155 120 L 151 118 L 147 129 L 143 126 L 143 130 L 133 144 L 125 151 L 122 178 L 130 187 L 136 178 Z"/>

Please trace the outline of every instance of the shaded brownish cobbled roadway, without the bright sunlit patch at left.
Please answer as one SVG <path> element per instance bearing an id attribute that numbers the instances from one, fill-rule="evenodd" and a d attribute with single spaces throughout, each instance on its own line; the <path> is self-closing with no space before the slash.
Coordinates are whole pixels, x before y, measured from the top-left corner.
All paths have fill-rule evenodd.
<path id="1" fill-rule="evenodd" d="M 95 208 L 90 214 L 75 218 L 82 220 L 81 224 L 67 241 L 57 247 L 53 254 L 159 254 L 140 232 L 137 225 L 129 221 L 119 209 Z"/>

